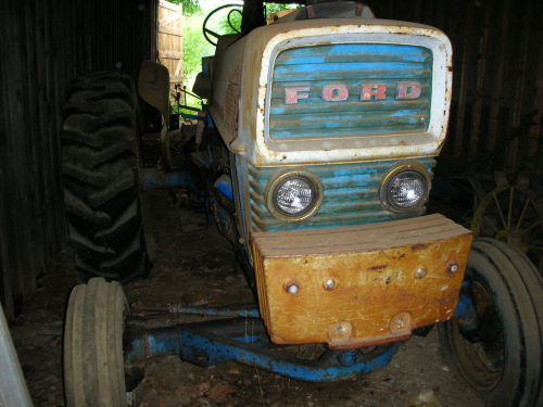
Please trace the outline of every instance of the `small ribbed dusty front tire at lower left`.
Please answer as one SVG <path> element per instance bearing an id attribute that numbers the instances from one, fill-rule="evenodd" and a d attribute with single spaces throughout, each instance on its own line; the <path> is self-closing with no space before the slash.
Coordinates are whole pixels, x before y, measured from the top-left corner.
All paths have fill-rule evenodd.
<path id="1" fill-rule="evenodd" d="M 70 295 L 64 325 L 64 392 L 68 407 L 126 406 L 124 319 L 129 314 L 116 281 L 90 279 Z"/>

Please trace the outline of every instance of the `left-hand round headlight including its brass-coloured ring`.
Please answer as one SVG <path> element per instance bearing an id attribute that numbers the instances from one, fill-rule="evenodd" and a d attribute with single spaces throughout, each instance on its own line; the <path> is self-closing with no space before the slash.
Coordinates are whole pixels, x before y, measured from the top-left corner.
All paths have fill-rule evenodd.
<path id="1" fill-rule="evenodd" d="M 300 221 L 315 213 L 321 200 L 321 187 L 313 174 L 289 171 L 268 185 L 269 212 L 281 220 Z"/>

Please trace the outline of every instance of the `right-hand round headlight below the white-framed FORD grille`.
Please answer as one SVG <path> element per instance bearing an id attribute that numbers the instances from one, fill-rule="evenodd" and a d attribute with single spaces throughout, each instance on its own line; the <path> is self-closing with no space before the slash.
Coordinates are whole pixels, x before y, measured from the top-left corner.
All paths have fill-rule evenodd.
<path id="1" fill-rule="evenodd" d="M 417 166 L 418 167 L 418 166 Z M 428 199 L 429 177 L 424 167 L 397 167 L 389 173 L 381 187 L 382 203 L 393 211 L 420 207 Z"/>

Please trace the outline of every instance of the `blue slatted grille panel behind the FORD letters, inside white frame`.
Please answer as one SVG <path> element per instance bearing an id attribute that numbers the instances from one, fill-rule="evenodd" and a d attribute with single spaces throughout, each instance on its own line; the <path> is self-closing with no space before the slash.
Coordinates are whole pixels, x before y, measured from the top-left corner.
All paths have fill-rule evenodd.
<path id="1" fill-rule="evenodd" d="M 402 81 L 420 84 L 420 97 L 396 100 L 396 86 Z M 422 47 L 338 43 L 282 51 L 273 74 L 269 136 L 286 140 L 426 131 L 431 81 L 432 53 Z M 387 86 L 387 99 L 362 101 L 361 86 L 375 84 Z M 345 85 L 349 98 L 324 100 L 325 85 Z M 287 104 L 286 88 L 296 87 L 311 89 Z"/>

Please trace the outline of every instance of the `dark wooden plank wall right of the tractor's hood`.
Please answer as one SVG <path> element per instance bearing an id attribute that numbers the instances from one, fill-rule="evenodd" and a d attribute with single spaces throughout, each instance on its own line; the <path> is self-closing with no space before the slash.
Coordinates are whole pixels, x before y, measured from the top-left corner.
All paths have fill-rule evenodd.
<path id="1" fill-rule="evenodd" d="M 541 0 L 366 3 L 379 18 L 429 24 L 451 38 L 453 101 L 442 162 L 464 168 L 468 163 L 475 167 L 493 165 L 508 173 L 528 164 L 543 168 Z M 526 126 L 530 122 L 533 125 Z M 507 144 L 515 133 L 518 137 Z"/>

